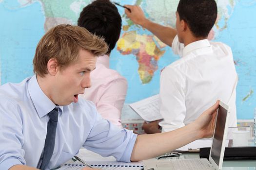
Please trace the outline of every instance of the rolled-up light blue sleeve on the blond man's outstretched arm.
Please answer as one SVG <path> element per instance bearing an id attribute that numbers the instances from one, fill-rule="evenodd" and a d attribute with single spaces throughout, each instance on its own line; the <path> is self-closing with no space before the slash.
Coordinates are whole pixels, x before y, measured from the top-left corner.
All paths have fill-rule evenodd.
<path id="1" fill-rule="evenodd" d="M 137 135 L 127 129 L 120 129 L 96 114 L 96 120 L 83 147 L 100 154 L 114 156 L 117 161 L 130 162 Z"/>

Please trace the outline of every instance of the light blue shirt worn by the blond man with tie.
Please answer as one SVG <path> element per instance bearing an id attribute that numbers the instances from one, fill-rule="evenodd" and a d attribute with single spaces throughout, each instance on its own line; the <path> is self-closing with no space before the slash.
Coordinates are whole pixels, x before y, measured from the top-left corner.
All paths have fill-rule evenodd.
<path id="1" fill-rule="evenodd" d="M 22 164 L 37 167 L 47 133 L 47 114 L 55 104 L 36 76 L 0 86 L 0 170 Z M 102 119 L 92 102 L 59 106 L 55 148 L 47 169 L 70 160 L 83 146 L 102 156 L 130 162 L 137 135 Z"/>

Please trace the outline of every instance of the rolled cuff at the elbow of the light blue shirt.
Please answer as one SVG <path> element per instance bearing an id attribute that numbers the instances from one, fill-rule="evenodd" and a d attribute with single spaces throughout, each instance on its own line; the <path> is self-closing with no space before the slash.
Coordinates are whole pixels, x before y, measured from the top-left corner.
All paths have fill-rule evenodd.
<path id="1" fill-rule="evenodd" d="M 126 131 L 129 131 L 125 129 Z M 118 162 L 131 162 L 131 155 L 133 152 L 133 148 L 137 139 L 137 135 L 133 133 L 133 131 L 127 132 L 127 133 L 132 133 L 131 135 L 131 140 L 129 141 L 125 153 L 122 155 L 122 157 L 118 160 Z"/>

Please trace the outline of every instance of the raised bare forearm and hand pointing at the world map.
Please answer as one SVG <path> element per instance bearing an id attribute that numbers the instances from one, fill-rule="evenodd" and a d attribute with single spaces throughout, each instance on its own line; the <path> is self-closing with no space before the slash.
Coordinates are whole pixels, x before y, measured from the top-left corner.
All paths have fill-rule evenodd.
<path id="1" fill-rule="evenodd" d="M 129 17 L 135 24 L 142 26 L 143 28 L 149 30 L 151 33 L 155 34 L 163 43 L 172 47 L 172 42 L 175 37 L 176 30 L 171 27 L 165 27 L 157 23 L 148 20 L 139 6 L 136 5 L 125 5 L 131 9 L 129 12 L 125 9 L 125 14 Z"/>

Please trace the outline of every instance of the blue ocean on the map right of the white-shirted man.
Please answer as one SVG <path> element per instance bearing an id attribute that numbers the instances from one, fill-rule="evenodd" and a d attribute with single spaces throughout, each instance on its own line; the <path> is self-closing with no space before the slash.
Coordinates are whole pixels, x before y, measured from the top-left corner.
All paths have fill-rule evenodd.
<path id="1" fill-rule="evenodd" d="M 252 20 L 252 16 L 256 16 L 256 6 L 248 7 L 242 3 L 242 1 L 236 1 L 234 12 L 228 20 L 228 29 L 218 34 L 217 41 L 224 42 L 231 47 L 236 62 L 237 118 L 253 119 L 253 111 L 256 107 L 256 49 L 254 45 L 256 20 Z"/>

